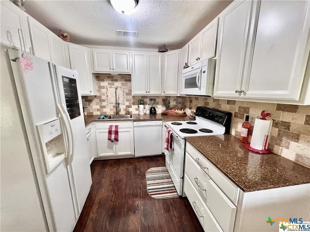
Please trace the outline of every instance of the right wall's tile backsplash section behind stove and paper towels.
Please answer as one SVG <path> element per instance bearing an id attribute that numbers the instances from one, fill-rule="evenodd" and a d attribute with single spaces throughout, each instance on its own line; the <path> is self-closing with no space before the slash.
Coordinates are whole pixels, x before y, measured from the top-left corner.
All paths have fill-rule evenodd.
<path id="1" fill-rule="evenodd" d="M 230 133 L 240 137 L 246 115 L 260 116 L 265 110 L 273 119 L 268 149 L 310 168 L 310 106 L 264 102 L 221 100 L 205 97 L 184 97 L 188 112 L 199 105 L 229 111 L 233 114 Z M 253 127 L 251 127 L 253 129 Z M 250 130 L 250 135 L 252 130 Z M 250 140 L 251 136 L 249 136 Z"/>

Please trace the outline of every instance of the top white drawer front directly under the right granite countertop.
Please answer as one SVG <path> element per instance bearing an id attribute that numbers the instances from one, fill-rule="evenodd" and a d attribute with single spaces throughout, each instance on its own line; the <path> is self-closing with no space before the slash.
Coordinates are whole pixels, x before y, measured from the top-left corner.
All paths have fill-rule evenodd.
<path id="1" fill-rule="evenodd" d="M 186 152 L 196 163 L 200 163 L 200 169 L 204 170 L 217 186 L 222 189 L 226 196 L 237 205 L 240 188 L 238 188 L 230 179 L 228 179 L 228 177 L 222 174 L 210 161 L 188 143 L 186 144 Z"/>

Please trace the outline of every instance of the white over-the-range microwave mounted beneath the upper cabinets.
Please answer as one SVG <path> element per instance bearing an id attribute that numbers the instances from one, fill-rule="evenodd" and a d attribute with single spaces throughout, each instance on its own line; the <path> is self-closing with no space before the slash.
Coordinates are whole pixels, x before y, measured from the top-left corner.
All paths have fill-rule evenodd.
<path id="1" fill-rule="evenodd" d="M 182 72 L 181 94 L 213 97 L 216 59 L 204 59 Z"/>

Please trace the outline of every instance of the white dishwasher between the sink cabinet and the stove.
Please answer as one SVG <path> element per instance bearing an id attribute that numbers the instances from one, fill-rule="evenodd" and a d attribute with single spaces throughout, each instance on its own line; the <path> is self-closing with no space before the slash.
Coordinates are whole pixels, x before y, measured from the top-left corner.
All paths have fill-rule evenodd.
<path id="1" fill-rule="evenodd" d="M 161 155 L 162 121 L 134 122 L 135 157 Z"/>

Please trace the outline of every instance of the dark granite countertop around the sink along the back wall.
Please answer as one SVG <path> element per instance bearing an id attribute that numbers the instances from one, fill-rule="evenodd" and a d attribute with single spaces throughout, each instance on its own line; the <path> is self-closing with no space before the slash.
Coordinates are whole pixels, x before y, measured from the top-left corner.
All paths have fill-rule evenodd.
<path id="1" fill-rule="evenodd" d="M 169 116 L 169 115 L 139 115 L 134 114 L 132 115 L 132 119 L 98 119 L 100 115 L 93 115 L 93 116 L 84 116 L 85 126 L 88 126 L 92 122 L 106 122 L 106 121 L 150 121 L 150 120 L 165 120 L 165 121 L 190 121 L 193 120 L 189 116 Z"/>

